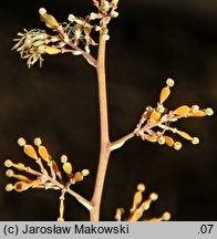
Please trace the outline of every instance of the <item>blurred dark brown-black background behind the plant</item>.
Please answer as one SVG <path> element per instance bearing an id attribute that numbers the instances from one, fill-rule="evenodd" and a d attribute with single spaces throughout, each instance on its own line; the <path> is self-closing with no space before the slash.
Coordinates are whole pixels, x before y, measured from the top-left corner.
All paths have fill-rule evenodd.
<path id="1" fill-rule="evenodd" d="M 11 179 L 3 162 L 31 164 L 17 139 L 40 136 L 56 160 L 68 154 L 75 169 L 91 175 L 74 189 L 91 198 L 99 157 L 99 103 L 94 69 L 69 54 L 45 58 L 43 67 L 28 69 L 12 39 L 23 28 L 45 28 L 38 10 L 45 7 L 59 21 L 85 15 L 91 0 L 2 1 L 0 8 L 0 220 L 55 220 L 59 194 L 30 189 L 6 193 Z M 167 106 L 217 105 L 217 1 L 124 0 L 110 25 L 107 96 L 111 139 L 130 133 L 147 105 L 155 105 L 167 77 L 176 80 Z M 216 220 L 216 115 L 177 124 L 200 137 L 179 152 L 134 138 L 114 152 L 108 165 L 102 220 L 117 207 L 131 207 L 141 181 L 159 194 L 145 217 L 168 210 L 172 220 Z M 66 220 L 87 220 L 87 212 L 66 197 Z"/>

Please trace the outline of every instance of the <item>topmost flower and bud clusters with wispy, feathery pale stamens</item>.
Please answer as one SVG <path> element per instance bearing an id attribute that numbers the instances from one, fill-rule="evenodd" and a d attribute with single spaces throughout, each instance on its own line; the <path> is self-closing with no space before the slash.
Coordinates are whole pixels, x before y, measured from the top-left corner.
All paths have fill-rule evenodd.
<path id="1" fill-rule="evenodd" d="M 73 55 L 83 55 L 86 61 L 96 66 L 96 60 L 90 54 L 90 46 L 97 45 L 91 37 L 92 30 L 99 31 L 104 40 L 108 40 L 107 24 L 112 18 L 118 13 L 117 0 L 99 1 L 93 0 L 97 12 L 91 12 L 85 18 L 78 18 L 70 14 L 69 22 L 60 23 L 53 15 L 49 14 L 44 8 L 39 9 L 40 19 L 45 25 L 53 30 L 53 33 L 46 33 L 44 30 L 32 29 L 18 33 L 14 39 L 17 43 L 12 50 L 17 50 L 21 59 L 27 59 L 27 64 L 31 67 L 39 61 L 40 66 L 43 62 L 43 54 L 58 54 L 70 52 Z"/>

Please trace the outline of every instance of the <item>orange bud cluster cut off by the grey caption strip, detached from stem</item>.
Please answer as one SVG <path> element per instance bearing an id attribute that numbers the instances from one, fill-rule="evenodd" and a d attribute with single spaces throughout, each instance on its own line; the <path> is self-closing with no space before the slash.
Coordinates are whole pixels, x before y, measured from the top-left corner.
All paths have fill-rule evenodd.
<path id="1" fill-rule="evenodd" d="M 130 209 L 128 216 L 123 219 L 124 215 L 124 208 L 117 208 L 116 209 L 116 215 L 115 219 L 117 221 L 162 221 L 162 220 L 169 220 L 170 219 L 170 214 L 169 212 L 164 212 L 161 217 L 155 217 L 151 219 L 142 219 L 144 211 L 148 210 L 151 207 L 151 204 L 153 201 L 156 201 L 158 198 L 158 195 L 155 193 L 149 194 L 149 197 L 147 199 L 143 199 L 143 193 L 145 191 L 145 185 L 144 184 L 138 184 L 137 185 L 137 191 L 134 194 L 133 198 L 133 205 L 132 208 Z"/>

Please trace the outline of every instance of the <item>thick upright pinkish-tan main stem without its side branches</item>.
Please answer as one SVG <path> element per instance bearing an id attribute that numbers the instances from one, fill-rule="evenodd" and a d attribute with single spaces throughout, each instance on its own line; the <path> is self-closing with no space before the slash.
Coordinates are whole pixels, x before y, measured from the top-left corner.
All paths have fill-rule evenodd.
<path id="1" fill-rule="evenodd" d="M 106 98 L 106 81 L 105 81 L 105 40 L 100 35 L 99 55 L 97 55 L 97 81 L 99 81 L 99 102 L 100 102 L 100 124 L 101 124 L 101 150 L 99 159 L 99 168 L 95 179 L 95 187 L 91 204 L 93 208 L 90 211 L 91 221 L 100 220 L 100 206 L 103 193 L 105 173 L 110 158 L 110 138 L 107 123 L 107 98 Z"/>

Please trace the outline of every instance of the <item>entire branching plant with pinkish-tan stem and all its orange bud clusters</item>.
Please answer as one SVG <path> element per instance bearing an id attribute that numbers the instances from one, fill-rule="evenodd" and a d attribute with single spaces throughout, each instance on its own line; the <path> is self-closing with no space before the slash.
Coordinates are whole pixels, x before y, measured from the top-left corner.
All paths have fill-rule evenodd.
<path id="1" fill-rule="evenodd" d="M 20 53 L 21 59 L 27 60 L 29 67 L 37 62 L 42 66 L 44 54 L 71 53 L 83 56 L 97 73 L 101 148 L 91 199 L 86 199 L 73 190 L 74 184 L 86 180 L 90 174 L 89 169 L 84 168 L 74 172 L 73 164 L 69 162 L 66 155 L 61 156 L 60 163 L 55 162 L 46 147 L 42 145 L 40 137 L 34 138 L 34 146 L 28 144 L 22 137 L 18 139 L 18 144 L 23 148 L 24 154 L 35 162 L 38 169 L 33 169 L 22 163 L 13 163 L 11 159 L 7 159 L 4 163 L 6 167 L 9 168 L 6 172 L 7 176 L 17 179 L 17 183 L 6 186 L 8 191 L 24 191 L 29 188 L 55 189 L 60 191 L 60 215 L 58 217 L 60 221 L 64 220 L 65 194 L 71 195 L 90 211 L 90 220 L 100 220 L 101 198 L 110 155 L 113 150 L 121 148 L 128 139 L 141 137 L 143 141 L 167 145 L 179 150 L 182 143 L 175 139 L 177 136 L 189 141 L 192 144 L 198 144 L 199 138 L 174 127 L 173 124 L 180 118 L 203 117 L 214 113 L 211 108 L 200 108 L 198 105 L 180 105 L 174 110 L 167 110 L 165 101 L 168 98 L 170 89 L 175 83 L 174 80 L 167 79 L 156 105 L 145 108 L 134 131 L 120 139 L 111 142 L 107 122 L 105 46 L 110 40 L 108 23 L 118 15 L 118 0 L 92 0 L 92 2 L 95 7 L 95 12 L 91 12 L 85 18 L 70 14 L 68 22 L 63 23 L 48 13 L 44 8 L 41 8 L 39 10 L 41 21 L 50 30 L 24 29 L 14 39 L 17 43 L 13 50 Z M 97 49 L 96 56 L 92 54 L 92 48 Z M 21 174 L 16 172 L 21 172 Z M 117 221 L 144 220 L 144 211 L 158 197 L 155 193 L 144 197 L 144 191 L 145 185 L 138 184 L 131 209 L 125 211 L 123 208 L 117 208 L 114 219 Z M 162 216 L 151 218 L 149 220 L 159 221 L 168 220 L 169 218 L 170 215 L 166 211 Z"/>

